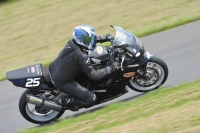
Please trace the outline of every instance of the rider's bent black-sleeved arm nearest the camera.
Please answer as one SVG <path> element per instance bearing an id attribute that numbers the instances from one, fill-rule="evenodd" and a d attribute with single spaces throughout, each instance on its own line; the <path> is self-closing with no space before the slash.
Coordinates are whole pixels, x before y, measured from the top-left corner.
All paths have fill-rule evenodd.
<path id="1" fill-rule="evenodd" d="M 110 66 L 95 70 L 91 65 L 90 58 L 88 56 L 83 56 L 81 53 L 79 53 L 78 64 L 84 73 L 92 80 L 102 79 L 113 71 Z"/>

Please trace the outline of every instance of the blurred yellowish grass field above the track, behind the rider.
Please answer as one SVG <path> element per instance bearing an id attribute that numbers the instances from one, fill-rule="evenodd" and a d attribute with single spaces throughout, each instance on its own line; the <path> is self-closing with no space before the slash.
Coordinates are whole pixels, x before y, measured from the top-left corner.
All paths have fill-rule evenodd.
<path id="1" fill-rule="evenodd" d="M 110 24 L 142 37 L 200 19 L 199 0 L 12 0 L 0 4 L 0 80 L 23 66 L 48 65 L 79 24 L 98 35 Z M 145 46 L 146 44 L 144 44 Z"/>

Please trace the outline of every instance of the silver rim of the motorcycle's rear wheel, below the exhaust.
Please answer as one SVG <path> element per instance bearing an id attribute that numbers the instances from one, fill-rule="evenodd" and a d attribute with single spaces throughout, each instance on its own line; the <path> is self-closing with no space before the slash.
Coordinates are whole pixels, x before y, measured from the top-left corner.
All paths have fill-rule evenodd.
<path id="1" fill-rule="evenodd" d="M 41 97 L 41 95 L 42 94 L 38 94 L 36 96 Z M 26 104 L 25 110 L 26 110 L 27 115 L 32 120 L 39 121 L 39 122 L 46 122 L 46 121 L 52 120 L 59 114 L 59 112 L 57 111 L 48 110 L 44 108 L 38 108 L 37 106 L 30 103 Z M 42 111 L 44 111 L 44 113 L 42 113 Z"/>

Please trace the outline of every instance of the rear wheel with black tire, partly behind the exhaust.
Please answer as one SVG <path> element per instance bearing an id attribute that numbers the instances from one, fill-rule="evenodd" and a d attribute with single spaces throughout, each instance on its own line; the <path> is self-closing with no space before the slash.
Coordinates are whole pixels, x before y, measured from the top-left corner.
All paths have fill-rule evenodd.
<path id="1" fill-rule="evenodd" d="M 40 97 L 40 95 L 44 94 L 43 91 L 35 91 L 35 90 L 26 90 L 20 100 L 19 100 L 19 111 L 21 115 L 29 122 L 35 123 L 35 124 L 46 124 L 50 123 L 52 121 L 55 121 L 56 119 L 60 118 L 65 110 L 61 110 L 60 112 L 54 111 L 54 110 L 47 110 L 44 108 L 39 108 L 33 104 L 26 102 L 26 95 L 34 95 L 37 97 Z M 52 93 L 53 96 L 56 96 Z M 30 110 L 30 106 L 32 106 L 33 109 Z"/>

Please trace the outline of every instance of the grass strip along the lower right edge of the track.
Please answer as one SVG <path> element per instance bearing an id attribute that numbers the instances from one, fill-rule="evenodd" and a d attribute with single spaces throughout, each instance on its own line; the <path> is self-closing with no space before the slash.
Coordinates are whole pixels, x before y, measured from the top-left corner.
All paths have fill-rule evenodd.
<path id="1" fill-rule="evenodd" d="M 200 79 L 20 133 L 198 133 L 199 99 Z"/>

